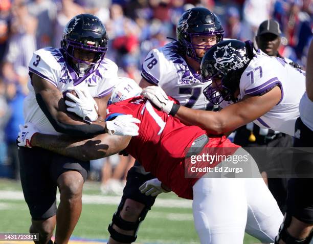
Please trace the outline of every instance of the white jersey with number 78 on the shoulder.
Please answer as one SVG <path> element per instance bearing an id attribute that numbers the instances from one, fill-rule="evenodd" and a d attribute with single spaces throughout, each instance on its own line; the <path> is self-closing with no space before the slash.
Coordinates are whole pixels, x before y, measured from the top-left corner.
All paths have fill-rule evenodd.
<path id="1" fill-rule="evenodd" d="M 151 50 L 143 61 L 141 75 L 149 83 L 161 86 L 181 105 L 195 109 L 213 108 L 203 94 L 209 82 L 200 81 L 200 75 L 181 56 L 176 41 Z"/>

